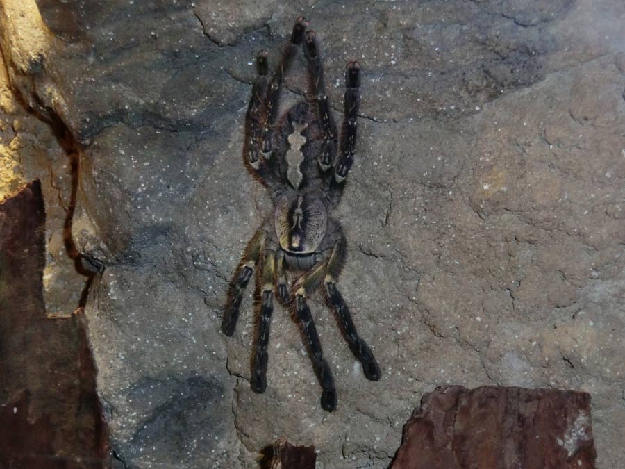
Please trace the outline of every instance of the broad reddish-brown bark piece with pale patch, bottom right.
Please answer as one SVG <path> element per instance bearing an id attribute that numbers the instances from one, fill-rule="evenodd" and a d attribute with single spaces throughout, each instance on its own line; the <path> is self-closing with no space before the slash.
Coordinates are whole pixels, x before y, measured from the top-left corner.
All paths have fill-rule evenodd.
<path id="1" fill-rule="evenodd" d="M 590 469 L 590 395 L 440 386 L 403 427 L 392 469 Z"/>

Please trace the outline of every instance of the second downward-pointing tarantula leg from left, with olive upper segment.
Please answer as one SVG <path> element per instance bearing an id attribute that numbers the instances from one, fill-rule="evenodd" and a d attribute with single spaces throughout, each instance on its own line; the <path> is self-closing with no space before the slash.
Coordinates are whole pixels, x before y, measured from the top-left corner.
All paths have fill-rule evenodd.
<path id="1" fill-rule="evenodd" d="M 274 311 L 274 285 L 276 281 L 276 254 L 267 250 L 260 272 L 262 290 L 260 293 L 260 313 L 256 316 L 256 338 L 251 359 L 249 386 L 255 393 L 264 393 L 267 388 L 267 364 L 269 363 L 269 330 Z M 258 281 L 258 277 L 257 277 Z"/>

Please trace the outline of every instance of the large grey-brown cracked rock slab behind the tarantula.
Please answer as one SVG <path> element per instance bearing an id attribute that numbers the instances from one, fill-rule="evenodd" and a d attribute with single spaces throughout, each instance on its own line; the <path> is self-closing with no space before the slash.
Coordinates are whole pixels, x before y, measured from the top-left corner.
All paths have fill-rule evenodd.
<path id="1" fill-rule="evenodd" d="M 37 5 L 49 44 L 9 76 L 80 150 L 72 230 L 104 267 L 85 311 L 120 464 L 253 468 L 287 436 L 315 445 L 318 468 L 385 468 L 423 393 L 499 384 L 590 393 L 597 466 L 622 466 L 621 0 Z M 240 158 L 253 58 L 268 49 L 275 63 L 300 14 L 336 109 L 345 63 L 363 67 L 335 216 L 349 240 L 342 293 L 383 377 L 363 377 L 311 302 L 332 414 L 286 313 L 264 395 L 247 381 L 251 291 L 235 336 L 219 333 L 228 280 L 269 210 Z M 303 80 L 298 59 L 285 98 Z"/>

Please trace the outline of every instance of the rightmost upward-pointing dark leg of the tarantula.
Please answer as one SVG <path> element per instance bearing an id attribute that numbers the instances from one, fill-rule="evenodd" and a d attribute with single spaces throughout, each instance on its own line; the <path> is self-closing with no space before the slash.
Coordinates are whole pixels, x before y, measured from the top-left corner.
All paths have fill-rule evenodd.
<path id="1" fill-rule="evenodd" d="M 333 177 L 329 183 L 329 195 L 336 206 L 340 201 L 344 181 L 353 164 L 356 148 L 356 126 L 358 126 L 358 108 L 360 107 L 360 64 L 352 61 L 345 72 L 345 117 L 341 130 L 340 155 L 335 165 Z"/>

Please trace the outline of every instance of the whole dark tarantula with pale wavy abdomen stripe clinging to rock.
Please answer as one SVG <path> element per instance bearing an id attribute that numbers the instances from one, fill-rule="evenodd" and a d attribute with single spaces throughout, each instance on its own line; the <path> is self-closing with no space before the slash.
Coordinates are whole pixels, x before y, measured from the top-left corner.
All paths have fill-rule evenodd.
<path id="1" fill-rule="evenodd" d="M 340 224 L 329 215 L 340 201 L 353 163 L 360 65 L 356 61 L 347 64 L 345 116 L 339 140 L 324 88 L 319 42 L 314 31 L 306 31 L 307 27 L 308 22 L 299 17 L 271 79 L 267 77 L 267 51 L 260 51 L 256 57 L 258 76 L 245 118 L 243 160 L 247 170 L 267 188 L 274 210 L 249 241 L 234 274 L 222 331 L 226 336 L 234 333 L 244 289 L 258 268 L 260 311 L 251 360 L 251 389 L 263 393 L 267 388 L 267 346 L 275 291 L 300 326 L 323 388 L 322 408 L 333 411 L 337 400 L 334 380 L 306 304 L 306 297 L 322 285 L 325 302 L 334 311 L 351 352 L 363 365 L 365 377 L 380 379 L 378 363 L 358 336 L 336 286 L 347 254 L 347 240 Z M 279 115 L 283 79 L 300 45 L 308 63 L 308 92 L 314 101 L 299 101 Z M 288 271 L 295 272 L 296 277 L 290 288 Z"/>

